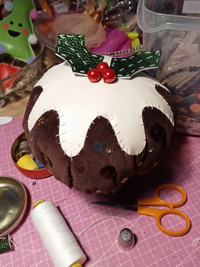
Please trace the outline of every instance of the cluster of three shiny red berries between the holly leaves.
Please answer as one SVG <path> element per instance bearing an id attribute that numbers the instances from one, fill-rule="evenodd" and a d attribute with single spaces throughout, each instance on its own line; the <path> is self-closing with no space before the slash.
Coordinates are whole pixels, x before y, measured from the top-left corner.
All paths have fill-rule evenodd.
<path id="1" fill-rule="evenodd" d="M 114 70 L 109 69 L 108 64 L 105 62 L 99 63 L 96 69 L 88 71 L 88 79 L 93 83 L 98 82 L 101 76 L 104 83 L 112 83 L 116 78 Z"/>

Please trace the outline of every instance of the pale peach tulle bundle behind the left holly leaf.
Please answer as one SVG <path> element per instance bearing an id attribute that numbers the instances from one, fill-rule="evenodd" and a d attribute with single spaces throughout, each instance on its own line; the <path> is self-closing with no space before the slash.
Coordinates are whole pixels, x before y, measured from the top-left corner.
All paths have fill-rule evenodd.
<path id="1" fill-rule="evenodd" d="M 53 26 L 56 34 L 58 32 L 68 34 L 85 34 L 85 45 L 88 50 L 98 47 L 105 41 L 106 31 L 102 23 L 97 23 L 89 15 L 71 14 L 59 16 Z"/>

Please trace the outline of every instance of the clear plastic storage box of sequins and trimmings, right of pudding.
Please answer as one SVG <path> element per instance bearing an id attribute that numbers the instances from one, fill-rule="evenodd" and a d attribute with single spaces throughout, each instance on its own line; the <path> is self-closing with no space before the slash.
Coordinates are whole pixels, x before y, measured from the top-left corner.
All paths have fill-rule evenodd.
<path id="1" fill-rule="evenodd" d="M 172 93 L 177 130 L 200 135 L 200 1 L 139 0 L 143 50 L 162 49 L 152 73 Z"/>

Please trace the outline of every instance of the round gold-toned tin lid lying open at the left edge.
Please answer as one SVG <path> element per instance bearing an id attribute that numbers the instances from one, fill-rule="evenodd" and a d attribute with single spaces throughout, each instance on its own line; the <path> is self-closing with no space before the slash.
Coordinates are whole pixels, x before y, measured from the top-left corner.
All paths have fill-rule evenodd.
<path id="1" fill-rule="evenodd" d="M 10 176 L 0 176 L 0 238 L 8 235 L 22 220 L 27 207 L 23 184 Z"/>

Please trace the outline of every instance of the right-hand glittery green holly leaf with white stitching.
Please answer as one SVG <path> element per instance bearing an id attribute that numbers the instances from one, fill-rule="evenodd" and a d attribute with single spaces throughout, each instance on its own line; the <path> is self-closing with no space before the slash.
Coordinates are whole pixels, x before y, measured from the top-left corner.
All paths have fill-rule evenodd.
<path id="1" fill-rule="evenodd" d="M 162 50 L 155 52 L 140 51 L 126 58 L 112 58 L 110 68 L 115 71 L 116 78 L 129 79 L 139 71 L 157 68 L 161 55 Z"/>

